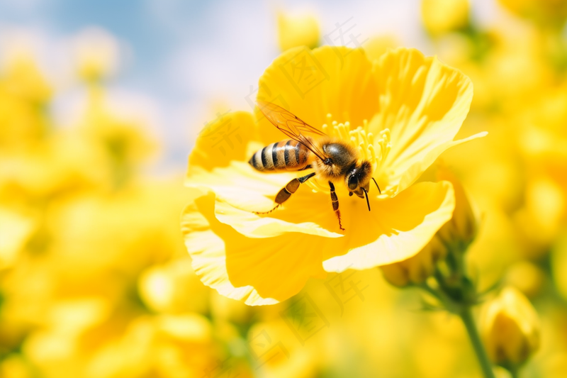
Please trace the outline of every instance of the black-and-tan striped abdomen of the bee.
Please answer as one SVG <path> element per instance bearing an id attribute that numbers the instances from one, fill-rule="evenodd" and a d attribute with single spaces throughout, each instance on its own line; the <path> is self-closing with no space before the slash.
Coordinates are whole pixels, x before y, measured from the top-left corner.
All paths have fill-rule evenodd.
<path id="1" fill-rule="evenodd" d="M 297 140 L 282 140 L 257 150 L 248 161 L 259 171 L 298 171 L 308 165 L 310 150 Z"/>

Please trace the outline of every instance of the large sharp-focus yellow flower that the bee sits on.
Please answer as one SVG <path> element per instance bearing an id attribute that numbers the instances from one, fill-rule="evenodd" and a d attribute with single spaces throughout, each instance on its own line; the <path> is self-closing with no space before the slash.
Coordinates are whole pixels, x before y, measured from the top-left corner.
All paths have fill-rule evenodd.
<path id="1" fill-rule="evenodd" d="M 284 52 L 260 79 L 258 99 L 352 143 L 371 161 L 381 194 L 370 189 L 368 211 L 364 199 L 337 183 L 344 233 L 329 185 L 317 177 L 281 209 L 259 216 L 253 211 L 273 208 L 274 196 L 299 172 L 266 174 L 247 161 L 286 136 L 259 112 L 256 120 L 243 112 L 220 116 L 189 157 L 191 203 L 182 229 L 196 273 L 230 298 L 274 304 L 325 271 L 415 255 L 451 218 L 454 191 L 449 182 L 414 182 L 444 150 L 482 135 L 453 140 L 472 94 L 461 72 L 417 50 L 398 49 L 375 62 L 361 49 Z"/>

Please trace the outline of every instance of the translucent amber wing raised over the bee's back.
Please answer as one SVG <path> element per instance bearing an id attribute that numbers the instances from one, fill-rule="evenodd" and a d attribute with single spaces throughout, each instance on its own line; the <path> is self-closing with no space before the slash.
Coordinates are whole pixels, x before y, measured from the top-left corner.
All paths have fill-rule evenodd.
<path id="1" fill-rule="evenodd" d="M 309 126 L 307 123 L 301 121 L 300 118 L 295 116 L 293 113 L 286 111 L 281 106 L 272 104 L 268 101 L 256 101 L 258 108 L 268 120 L 276 126 L 282 133 L 286 134 L 289 138 L 297 140 L 299 143 L 305 145 L 313 152 L 320 160 L 325 160 L 322 157 L 322 152 L 313 144 L 313 142 L 305 137 L 303 133 L 310 133 L 315 135 L 326 135 L 320 130 L 317 130 L 313 126 Z"/>

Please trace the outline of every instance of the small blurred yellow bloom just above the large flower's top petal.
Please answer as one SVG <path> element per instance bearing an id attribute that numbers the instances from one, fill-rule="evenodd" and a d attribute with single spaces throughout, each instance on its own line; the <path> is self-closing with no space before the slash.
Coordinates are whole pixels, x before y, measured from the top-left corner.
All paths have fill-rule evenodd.
<path id="1" fill-rule="evenodd" d="M 313 14 L 278 13 L 278 42 L 281 51 L 298 46 L 316 48 L 319 39 L 319 22 Z"/>

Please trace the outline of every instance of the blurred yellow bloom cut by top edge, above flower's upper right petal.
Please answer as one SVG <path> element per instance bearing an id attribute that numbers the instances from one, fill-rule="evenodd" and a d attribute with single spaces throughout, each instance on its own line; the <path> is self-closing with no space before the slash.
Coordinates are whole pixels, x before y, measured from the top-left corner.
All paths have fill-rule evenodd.
<path id="1" fill-rule="evenodd" d="M 434 36 L 463 30 L 469 23 L 469 8 L 468 0 L 422 0 L 425 29 Z"/>

